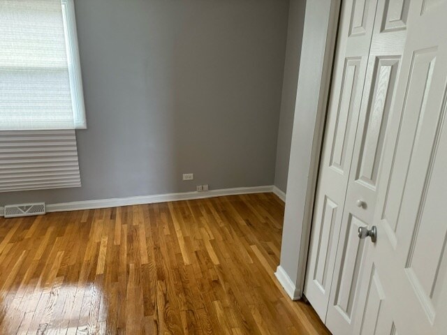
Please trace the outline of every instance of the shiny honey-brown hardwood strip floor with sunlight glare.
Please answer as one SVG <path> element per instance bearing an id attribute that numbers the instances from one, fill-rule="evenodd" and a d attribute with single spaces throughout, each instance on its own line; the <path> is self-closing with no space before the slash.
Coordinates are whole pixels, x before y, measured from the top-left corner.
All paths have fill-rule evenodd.
<path id="1" fill-rule="evenodd" d="M 0 334 L 329 334 L 274 277 L 272 193 L 0 218 Z"/>

